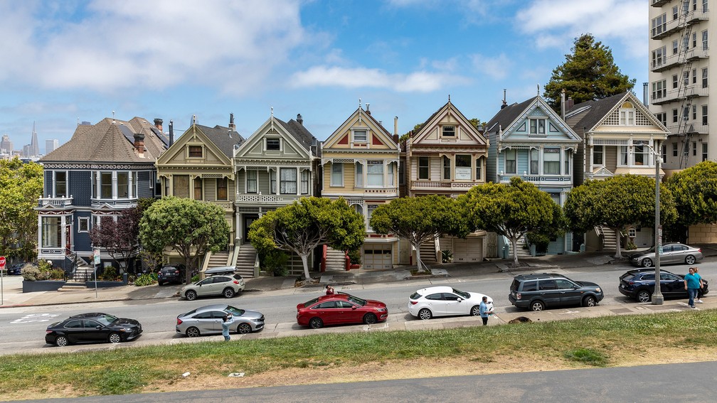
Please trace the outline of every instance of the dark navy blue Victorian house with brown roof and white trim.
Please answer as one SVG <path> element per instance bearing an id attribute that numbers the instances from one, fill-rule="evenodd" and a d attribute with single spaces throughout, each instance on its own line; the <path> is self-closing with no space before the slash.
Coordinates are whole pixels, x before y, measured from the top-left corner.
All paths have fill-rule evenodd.
<path id="1" fill-rule="evenodd" d="M 105 118 L 77 125 L 67 143 L 39 159 L 44 191 L 38 212 L 37 258 L 69 270 L 68 259 L 92 260 L 90 229 L 159 196 L 155 161 L 169 146 L 162 120 Z M 104 251 L 101 260 L 111 257 Z"/>

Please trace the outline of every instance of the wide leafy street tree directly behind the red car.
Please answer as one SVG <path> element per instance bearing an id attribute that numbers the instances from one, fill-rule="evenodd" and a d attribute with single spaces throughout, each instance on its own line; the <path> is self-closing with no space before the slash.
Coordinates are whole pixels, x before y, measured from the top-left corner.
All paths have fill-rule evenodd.
<path id="1" fill-rule="evenodd" d="M 258 252 L 280 249 L 301 258 L 304 276 L 309 275 L 308 257 L 315 247 L 355 250 L 364 243 L 364 217 L 339 198 L 304 197 L 286 207 L 267 212 L 252 223 L 248 239 Z"/>

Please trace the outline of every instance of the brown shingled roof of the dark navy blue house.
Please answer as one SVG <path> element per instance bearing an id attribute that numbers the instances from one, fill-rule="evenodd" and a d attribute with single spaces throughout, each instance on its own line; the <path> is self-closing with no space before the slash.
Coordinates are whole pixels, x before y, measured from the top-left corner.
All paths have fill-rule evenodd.
<path id="1" fill-rule="evenodd" d="M 143 157 L 135 152 L 135 133 L 144 135 Z M 166 151 L 167 143 L 166 136 L 146 119 L 104 118 L 95 125 L 77 125 L 70 141 L 39 162 L 152 163 Z"/>

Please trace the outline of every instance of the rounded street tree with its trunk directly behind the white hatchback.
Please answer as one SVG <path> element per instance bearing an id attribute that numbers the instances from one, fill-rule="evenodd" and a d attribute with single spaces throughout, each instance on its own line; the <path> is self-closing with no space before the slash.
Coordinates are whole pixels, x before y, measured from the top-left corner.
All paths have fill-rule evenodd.
<path id="1" fill-rule="evenodd" d="M 381 204 L 371 214 L 371 228 L 374 232 L 394 234 L 411 242 L 416 250 L 419 271 L 427 271 L 421 261 L 421 244 L 441 234 L 454 233 L 460 228 L 459 221 L 455 201 L 435 194 L 393 199 L 387 204 Z"/>

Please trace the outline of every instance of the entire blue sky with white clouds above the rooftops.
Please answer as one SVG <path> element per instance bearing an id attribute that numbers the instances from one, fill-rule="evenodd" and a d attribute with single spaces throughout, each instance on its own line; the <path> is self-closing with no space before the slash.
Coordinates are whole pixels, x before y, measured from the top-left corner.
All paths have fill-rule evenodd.
<path id="1" fill-rule="evenodd" d="M 452 103 L 490 120 L 537 94 L 576 37 L 647 81 L 647 0 L 0 1 L 0 135 L 70 139 L 115 116 L 250 136 L 300 113 L 324 140 L 359 106 L 399 135 Z"/>

